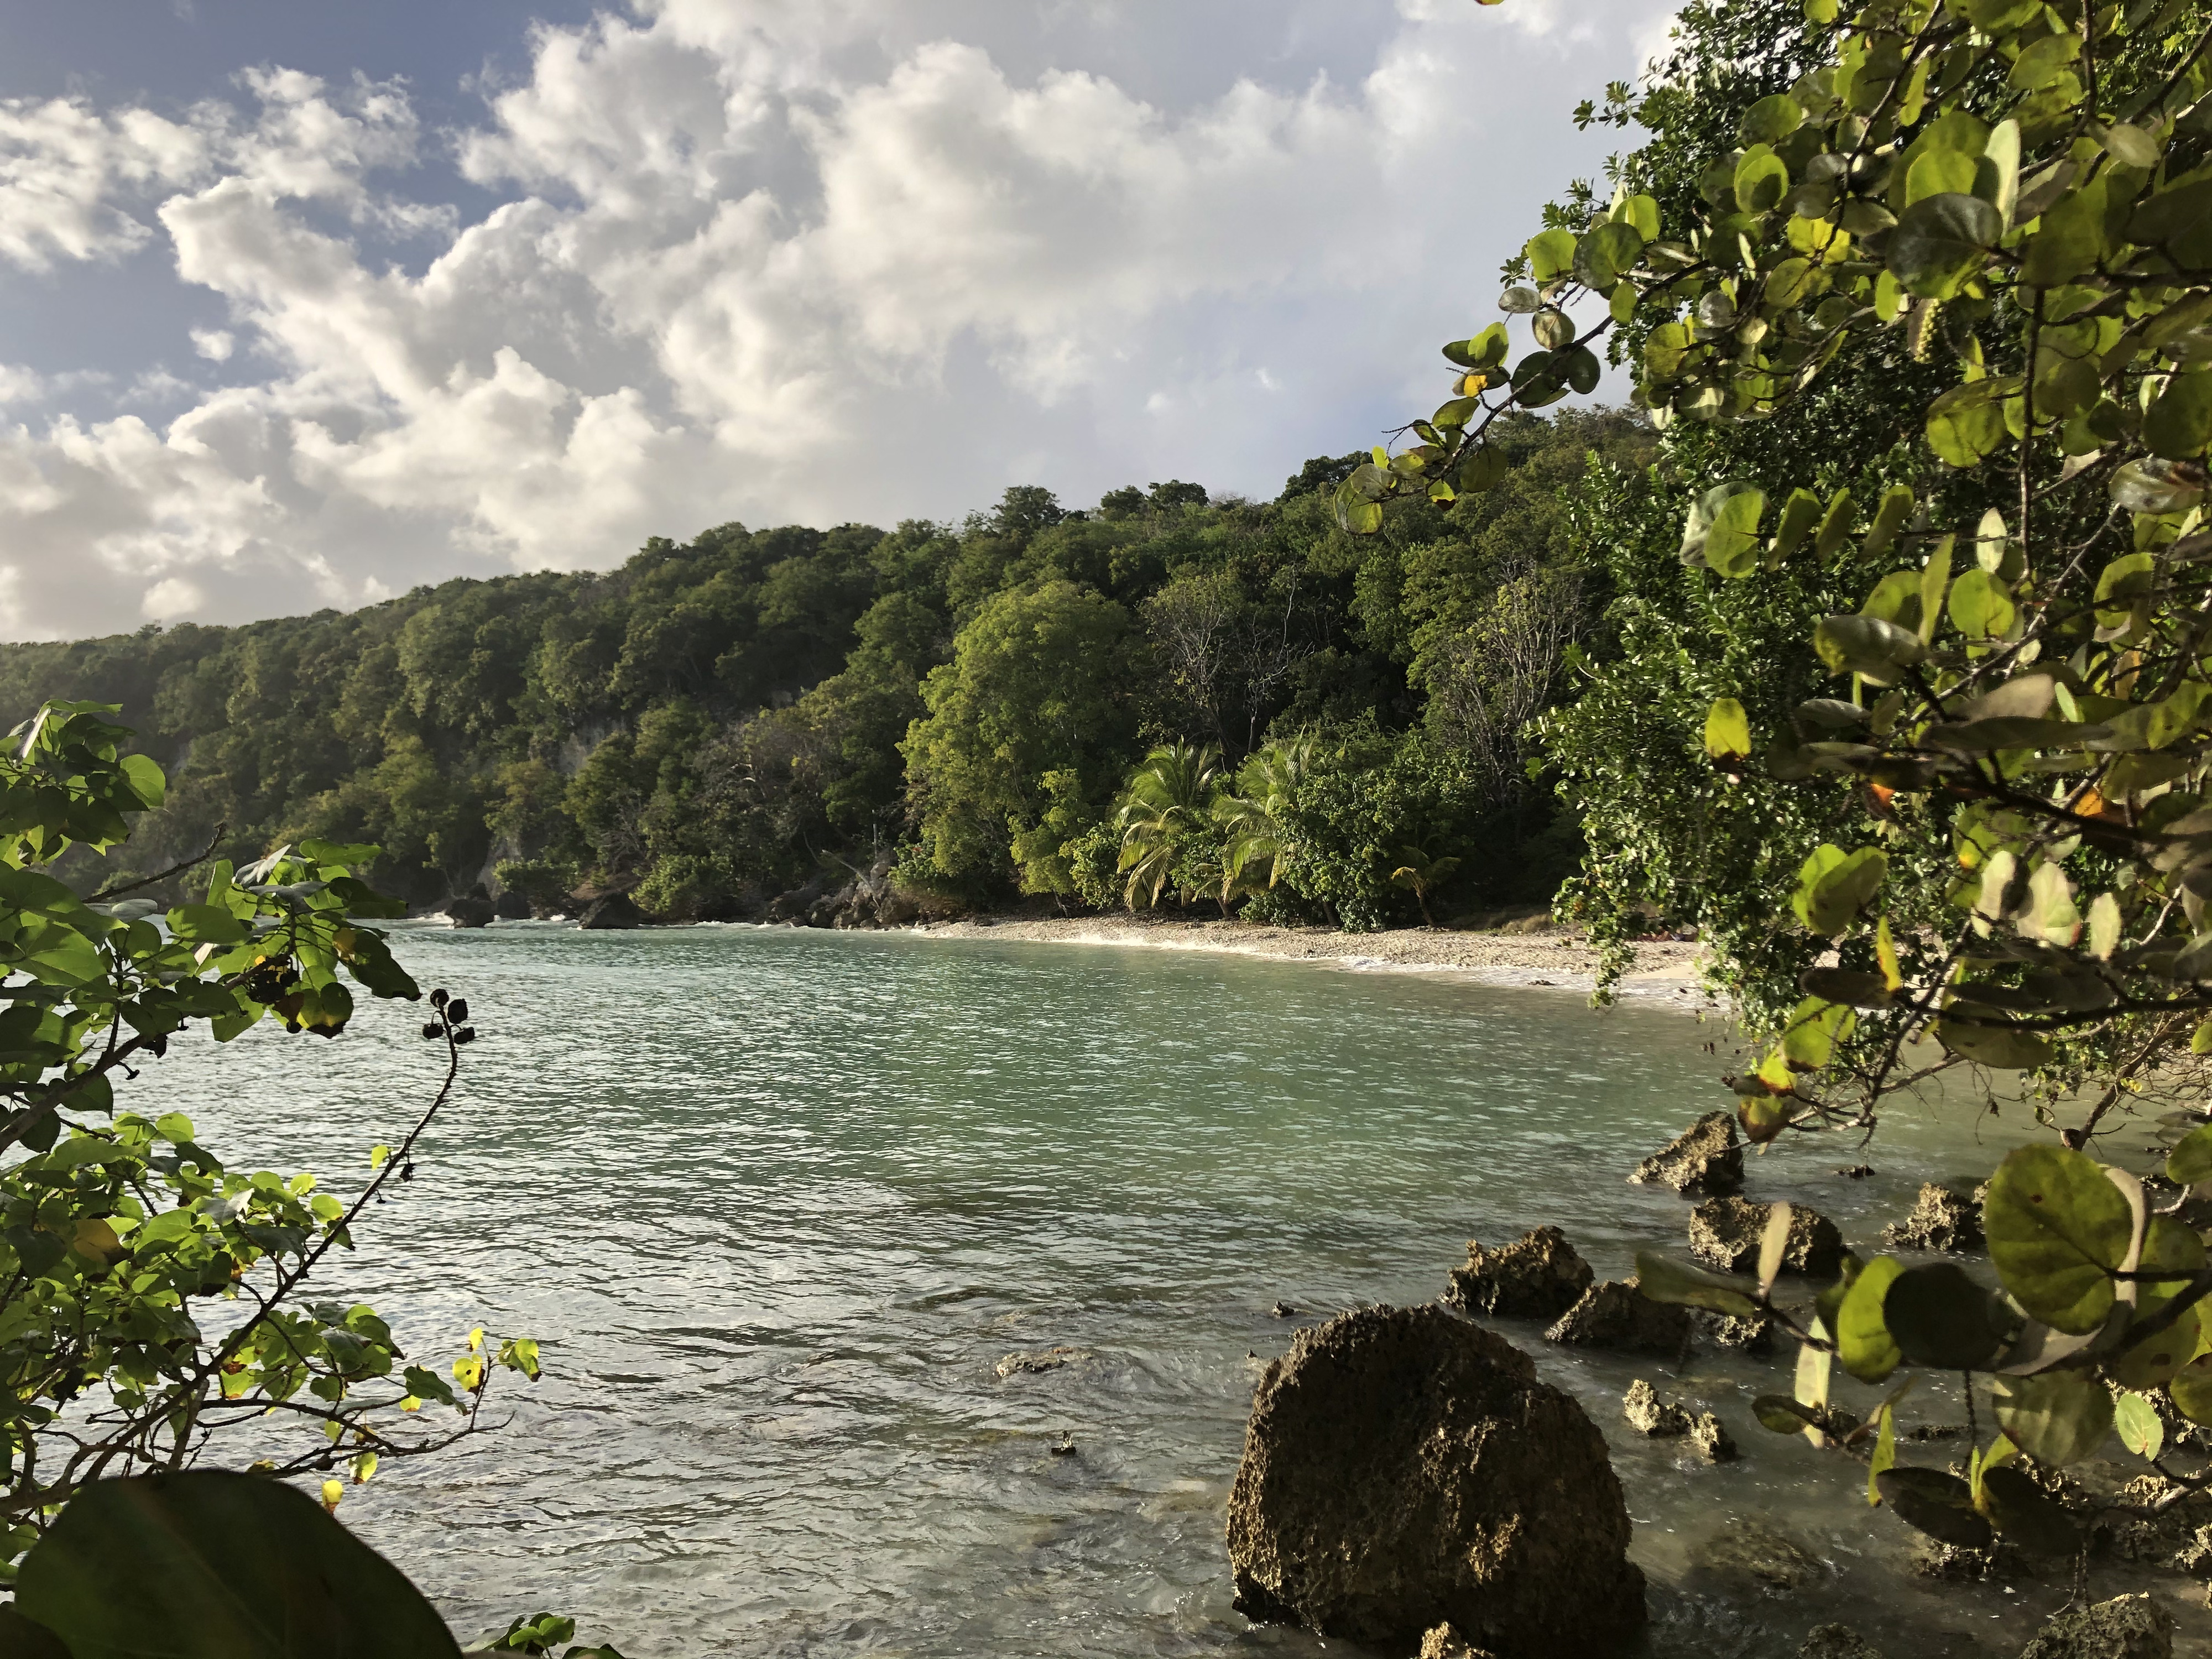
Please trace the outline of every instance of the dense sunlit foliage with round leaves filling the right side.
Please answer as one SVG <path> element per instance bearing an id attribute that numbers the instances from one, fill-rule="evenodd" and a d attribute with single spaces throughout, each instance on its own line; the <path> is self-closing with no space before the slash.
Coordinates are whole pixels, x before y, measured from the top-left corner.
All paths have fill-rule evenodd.
<path id="1" fill-rule="evenodd" d="M 2121 1444 L 2117 1506 L 2212 1486 L 2212 1265 L 2185 1217 L 2212 1126 L 2159 1179 L 2084 1148 L 2212 1051 L 2212 24 L 2183 0 L 1692 7 L 1641 97 L 1652 142 L 1506 272 L 1535 349 L 1444 347 L 1460 396 L 1336 491 L 1340 522 L 1495 478 L 1489 434 L 1595 385 L 1610 336 L 1663 434 L 1601 484 L 1615 628 L 1544 723 L 1582 807 L 1577 900 L 1705 922 L 1763 1060 L 1754 1141 L 1871 1130 L 1942 1075 L 2039 1091 L 2059 1144 L 1982 1194 L 1997 1287 L 1847 1259 L 1776 1301 L 1657 1254 L 1648 1296 L 1801 1338 L 1761 1418 L 1869 1462 L 1869 1502 L 1958 1546 L 2073 1555 L 2053 1471 Z M 1891 1389 L 1858 1422 L 1832 1367 Z M 1900 1462 L 1911 1371 L 1997 1425 L 1964 1471 Z M 2203 1444 L 2201 1440 L 2197 1442 Z M 2013 1464 L 2026 1455 L 2028 1471 Z M 2179 1455 L 2179 1460 L 2177 1460 Z"/>

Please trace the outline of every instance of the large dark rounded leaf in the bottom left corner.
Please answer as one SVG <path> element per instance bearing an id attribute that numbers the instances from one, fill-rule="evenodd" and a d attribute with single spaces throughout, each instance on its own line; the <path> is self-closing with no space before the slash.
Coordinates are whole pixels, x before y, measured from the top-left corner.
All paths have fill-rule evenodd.
<path id="1" fill-rule="evenodd" d="M 259 1475 L 86 1486 L 24 1557 L 15 1604 L 75 1659 L 460 1659 L 398 1568 Z"/>

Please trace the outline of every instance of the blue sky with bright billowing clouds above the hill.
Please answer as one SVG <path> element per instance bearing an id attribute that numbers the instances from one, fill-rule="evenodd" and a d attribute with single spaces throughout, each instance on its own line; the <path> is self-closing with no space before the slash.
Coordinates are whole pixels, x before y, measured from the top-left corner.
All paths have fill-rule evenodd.
<path id="1" fill-rule="evenodd" d="M 0 0 L 0 639 L 1270 498 L 1666 0 Z"/>

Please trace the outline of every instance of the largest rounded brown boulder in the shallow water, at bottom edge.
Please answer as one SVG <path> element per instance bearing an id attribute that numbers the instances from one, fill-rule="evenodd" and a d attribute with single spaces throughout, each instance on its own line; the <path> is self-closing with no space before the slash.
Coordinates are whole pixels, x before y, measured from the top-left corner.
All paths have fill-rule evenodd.
<path id="1" fill-rule="evenodd" d="M 1597 1425 L 1442 1307 L 1298 1332 L 1252 1396 L 1230 1491 L 1237 1606 L 1385 1652 L 1606 1655 L 1644 1626 Z"/>

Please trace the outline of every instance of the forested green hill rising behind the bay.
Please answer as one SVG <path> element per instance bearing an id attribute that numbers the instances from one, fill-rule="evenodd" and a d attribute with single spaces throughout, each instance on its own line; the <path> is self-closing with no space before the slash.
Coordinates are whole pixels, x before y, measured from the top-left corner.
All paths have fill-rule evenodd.
<path id="1" fill-rule="evenodd" d="M 1542 898 L 1573 836 L 1517 728 L 1601 617 L 1571 535 L 1579 480 L 1641 465 L 1648 431 L 1522 416 L 1506 445 L 1500 487 L 1383 538 L 1334 522 L 1327 491 L 1358 456 L 1307 462 L 1274 502 L 1170 482 L 1086 511 L 1009 489 L 960 526 L 723 524 L 604 575 L 4 646 L 0 712 L 122 706 L 170 774 L 133 874 L 221 825 L 241 860 L 376 841 L 385 883 L 422 905 L 633 889 L 666 918 L 750 916 L 891 860 L 951 902 L 1108 902 L 1130 772 L 1181 741 L 1210 768 L 1183 781 L 1183 827 L 1221 816 L 1208 799 L 1254 750 L 1294 754 L 1276 816 L 1305 812 L 1307 856 L 1254 896 L 1221 885 L 1219 847 L 1208 865 L 1177 843 L 1168 902 L 1219 887 L 1374 925 L 1431 887 L 1455 909 Z M 1391 885 L 1409 849 L 1462 863 L 1416 894 Z"/>

